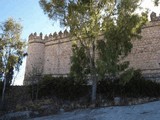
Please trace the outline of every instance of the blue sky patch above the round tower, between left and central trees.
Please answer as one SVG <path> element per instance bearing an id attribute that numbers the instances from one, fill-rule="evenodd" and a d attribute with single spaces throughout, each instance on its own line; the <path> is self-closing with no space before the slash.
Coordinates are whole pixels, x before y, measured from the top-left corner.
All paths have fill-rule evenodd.
<path id="1" fill-rule="evenodd" d="M 0 22 L 9 17 L 20 21 L 23 26 L 22 38 L 27 39 L 32 32 L 49 34 L 59 31 L 59 24 L 49 20 L 40 8 L 39 0 L 0 0 Z"/>

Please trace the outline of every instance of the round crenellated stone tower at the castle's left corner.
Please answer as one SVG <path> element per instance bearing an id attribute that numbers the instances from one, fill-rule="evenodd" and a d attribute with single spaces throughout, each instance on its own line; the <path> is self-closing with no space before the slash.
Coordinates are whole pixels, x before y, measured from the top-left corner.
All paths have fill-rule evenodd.
<path id="1" fill-rule="evenodd" d="M 37 33 L 30 34 L 24 85 L 35 83 L 41 77 L 44 64 L 44 48 L 42 33 L 39 36 Z"/>

